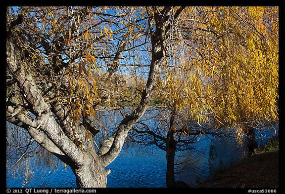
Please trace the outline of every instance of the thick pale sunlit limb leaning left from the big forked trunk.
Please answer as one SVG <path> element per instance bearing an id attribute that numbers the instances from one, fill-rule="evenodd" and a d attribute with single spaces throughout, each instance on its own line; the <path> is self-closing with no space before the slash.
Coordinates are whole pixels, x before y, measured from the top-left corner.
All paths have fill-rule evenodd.
<path id="1" fill-rule="evenodd" d="M 23 115 L 17 118 L 24 124 L 43 130 L 47 137 L 56 145 L 56 147 L 70 157 L 73 161 L 82 162 L 79 158 L 83 155 L 79 148 L 61 131 L 58 123 L 52 115 L 48 105 L 46 104 L 41 92 L 37 89 L 36 83 L 28 70 L 21 64 L 14 45 L 7 40 L 7 70 L 17 79 L 20 92 L 27 99 L 32 107 L 36 118 L 28 121 Z M 8 111 L 13 111 L 7 109 Z M 25 127 L 27 128 L 27 127 Z"/>

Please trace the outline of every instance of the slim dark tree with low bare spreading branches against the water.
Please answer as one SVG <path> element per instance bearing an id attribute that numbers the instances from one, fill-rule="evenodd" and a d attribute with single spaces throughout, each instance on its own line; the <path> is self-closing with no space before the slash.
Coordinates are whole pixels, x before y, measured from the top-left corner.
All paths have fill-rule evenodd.
<path id="1" fill-rule="evenodd" d="M 215 123 L 199 125 L 196 118 L 190 117 L 187 111 L 177 111 L 171 108 L 164 108 L 158 111 L 152 111 L 154 125 L 148 126 L 143 121 L 139 121 L 130 131 L 132 142 L 142 145 L 155 145 L 163 150 L 166 155 L 166 186 L 189 187 L 183 181 L 176 181 L 175 174 L 180 171 L 176 167 L 184 165 L 193 159 L 189 151 L 195 149 L 195 143 L 204 136 L 216 136 L 225 138 L 228 136 L 227 131 L 222 127 L 215 128 Z M 177 155 L 177 152 L 179 154 Z M 188 153 L 187 157 L 181 161 L 180 156 Z"/>

